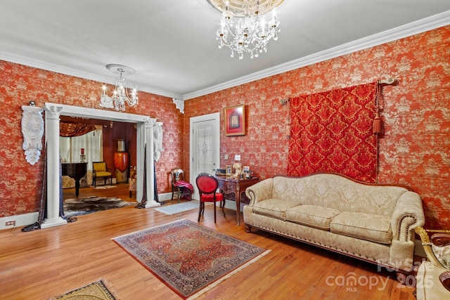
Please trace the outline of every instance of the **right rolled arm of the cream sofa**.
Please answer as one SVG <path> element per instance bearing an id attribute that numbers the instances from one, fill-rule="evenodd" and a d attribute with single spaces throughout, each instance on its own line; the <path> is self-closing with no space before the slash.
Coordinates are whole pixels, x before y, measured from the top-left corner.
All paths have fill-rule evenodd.
<path id="1" fill-rule="evenodd" d="M 401 194 L 392 214 L 392 240 L 408 242 L 414 234 L 414 228 L 425 224 L 422 200 L 417 193 L 408 191 Z"/>

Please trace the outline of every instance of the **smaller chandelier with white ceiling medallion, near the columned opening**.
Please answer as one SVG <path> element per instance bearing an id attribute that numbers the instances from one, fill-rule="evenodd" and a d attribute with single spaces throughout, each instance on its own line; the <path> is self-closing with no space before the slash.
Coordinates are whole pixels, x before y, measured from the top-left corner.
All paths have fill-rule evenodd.
<path id="1" fill-rule="evenodd" d="M 134 74 L 136 71 L 125 65 L 106 65 L 106 68 L 115 74 L 119 74 L 112 96 L 106 95 L 106 86 L 103 85 L 103 93 L 100 98 L 100 106 L 105 108 L 115 108 L 115 110 L 123 112 L 125 110 L 125 103 L 133 107 L 139 104 L 136 89 L 131 91 L 131 97 L 128 95 L 127 84 L 122 77 L 123 74 Z"/>

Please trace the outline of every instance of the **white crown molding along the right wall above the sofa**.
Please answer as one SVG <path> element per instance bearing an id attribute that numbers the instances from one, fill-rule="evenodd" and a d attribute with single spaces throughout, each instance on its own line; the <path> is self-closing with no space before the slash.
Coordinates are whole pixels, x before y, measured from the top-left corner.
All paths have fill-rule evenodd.
<path id="1" fill-rule="evenodd" d="M 378 34 L 373 34 L 371 36 L 364 37 L 362 39 L 357 39 L 356 41 L 352 41 L 347 44 L 342 44 L 340 46 L 329 48 L 327 50 L 314 53 L 309 56 L 304 56 L 303 58 L 291 60 L 288 63 L 284 63 L 266 70 L 262 70 L 243 77 L 239 77 L 231 81 L 226 81 L 222 84 L 210 86 L 207 89 L 202 89 L 199 91 L 195 91 L 193 93 L 186 93 L 183 98 L 184 100 L 189 100 L 200 96 L 205 96 L 209 93 L 229 89 L 233 86 L 240 86 L 241 84 L 247 84 L 251 81 L 299 69 L 300 67 L 306 67 L 307 65 L 313 65 L 314 63 L 320 63 L 322 61 L 329 60 L 330 58 L 337 58 L 339 56 L 344 56 L 349 53 L 361 51 L 366 48 L 386 44 L 390 41 L 403 39 L 404 37 L 411 37 L 414 34 L 427 32 L 429 30 L 444 27 L 446 25 L 450 25 L 450 11 L 445 11 L 444 13 L 432 15 L 431 17 L 424 18 L 416 22 L 411 22 L 409 24 L 402 25 L 399 27 L 395 27 L 392 28 L 391 30 L 386 30 Z"/>

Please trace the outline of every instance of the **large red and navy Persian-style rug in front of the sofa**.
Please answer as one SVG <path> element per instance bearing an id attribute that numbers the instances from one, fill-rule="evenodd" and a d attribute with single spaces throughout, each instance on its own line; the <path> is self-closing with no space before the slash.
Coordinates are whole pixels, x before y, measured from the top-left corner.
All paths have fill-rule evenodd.
<path id="1" fill-rule="evenodd" d="M 194 299 L 269 253 L 186 219 L 113 238 L 183 299 Z"/>

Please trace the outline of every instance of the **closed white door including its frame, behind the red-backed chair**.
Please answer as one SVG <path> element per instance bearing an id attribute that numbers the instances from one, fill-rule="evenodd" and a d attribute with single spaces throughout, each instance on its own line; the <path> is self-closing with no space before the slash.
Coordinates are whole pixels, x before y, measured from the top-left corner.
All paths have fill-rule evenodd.
<path id="1" fill-rule="evenodd" d="M 191 117 L 189 123 L 189 180 L 194 187 L 193 199 L 198 199 L 195 178 L 201 172 L 213 174 L 220 165 L 220 114 Z"/>

